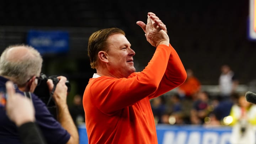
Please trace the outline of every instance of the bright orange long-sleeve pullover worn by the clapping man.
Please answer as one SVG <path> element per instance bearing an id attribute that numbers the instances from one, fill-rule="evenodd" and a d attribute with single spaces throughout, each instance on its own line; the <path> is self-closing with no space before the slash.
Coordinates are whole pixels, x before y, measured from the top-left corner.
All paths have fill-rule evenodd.
<path id="1" fill-rule="evenodd" d="M 171 45 L 160 45 L 142 72 L 91 78 L 83 106 L 89 144 L 157 144 L 150 98 L 174 89 L 186 71 Z"/>

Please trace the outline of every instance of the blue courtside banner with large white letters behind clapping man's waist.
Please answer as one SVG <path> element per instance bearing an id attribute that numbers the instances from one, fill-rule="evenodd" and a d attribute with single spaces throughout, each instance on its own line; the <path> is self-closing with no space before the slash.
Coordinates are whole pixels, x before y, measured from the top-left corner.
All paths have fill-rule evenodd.
<path id="1" fill-rule="evenodd" d="M 157 125 L 158 144 L 230 144 L 231 127 Z M 79 127 L 80 144 L 88 144 L 85 126 Z"/>

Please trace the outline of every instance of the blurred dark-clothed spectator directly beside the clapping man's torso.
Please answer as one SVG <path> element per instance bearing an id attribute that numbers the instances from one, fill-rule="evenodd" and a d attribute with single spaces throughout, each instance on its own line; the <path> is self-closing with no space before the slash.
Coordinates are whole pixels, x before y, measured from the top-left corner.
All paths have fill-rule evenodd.
<path id="1" fill-rule="evenodd" d="M 156 124 L 163 123 L 161 117 L 163 114 L 166 114 L 164 101 L 165 100 L 163 96 L 155 97 L 151 100 L 151 108 Z"/>

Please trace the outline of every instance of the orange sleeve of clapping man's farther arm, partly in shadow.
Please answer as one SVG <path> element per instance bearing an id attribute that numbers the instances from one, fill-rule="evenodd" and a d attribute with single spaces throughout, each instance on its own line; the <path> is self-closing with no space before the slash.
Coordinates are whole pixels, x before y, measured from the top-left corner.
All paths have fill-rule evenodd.
<path id="1" fill-rule="evenodd" d="M 181 85 L 187 78 L 186 70 L 178 56 L 176 50 L 169 44 L 171 54 L 168 60 L 167 68 L 160 85 L 153 96 L 150 98 L 158 97 L 175 87 Z"/>

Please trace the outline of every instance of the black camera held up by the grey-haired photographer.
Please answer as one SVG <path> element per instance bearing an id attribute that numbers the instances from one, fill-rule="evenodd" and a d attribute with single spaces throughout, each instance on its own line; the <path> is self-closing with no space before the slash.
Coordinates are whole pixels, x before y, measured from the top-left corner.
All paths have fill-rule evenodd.
<path id="1" fill-rule="evenodd" d="M 55 102 L 52 98 L 52 95 L 54 93 L 54 90 L 56 88 L 56 85 L 59 82 L 59 79 L 57 79 L 58 76 L 49 76 L 47 77 L 45 74 L 41 73 L 40 77 L 38 78 L 38 84 L 36 89 L 34 90 L 34 94 L 38 96 L 45 104 L 46 106 L 49 107 L 55 107 Z M 47 80 L 52 79 L 54 87 L 53 90 L 50 92 L 48 85 L 47 85 Z M 70 92 L 70 83 L 68 80 L 66 80 L 66 86 L 68 87 L 68 92 Z"/>

